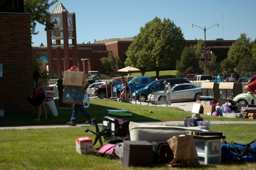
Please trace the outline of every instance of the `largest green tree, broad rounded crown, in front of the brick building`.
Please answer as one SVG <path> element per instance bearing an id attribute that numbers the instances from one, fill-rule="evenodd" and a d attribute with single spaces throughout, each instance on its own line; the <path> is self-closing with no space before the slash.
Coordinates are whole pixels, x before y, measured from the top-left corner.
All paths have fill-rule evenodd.
<path id="1" fill-rule="evenodd" d="M 162 22 L 156 17 L 145 27 L 140 27 L 140 33 L 134 36 L 126 51 L 125 66 L 155 70 L 156 78 L 159 78 L 160 69 L 175 69 L 176 60 L 180 59 L 185 46 L 180 27 L 176 27 L 169 18 Z"/>

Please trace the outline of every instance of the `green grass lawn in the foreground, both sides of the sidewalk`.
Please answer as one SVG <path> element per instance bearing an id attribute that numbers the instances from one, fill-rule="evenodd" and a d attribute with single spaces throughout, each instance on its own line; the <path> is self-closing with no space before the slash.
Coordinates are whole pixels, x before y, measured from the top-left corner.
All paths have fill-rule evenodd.
<path id="1" fill-rule="evenodd" d="M 55 101 L 58 105 L 58 101 Z M 132 117 L 121 117 L 130 121 L 164 121 L 184 120 L 191 117 L 191 112 L 182 111 L 175 107 L 156 107 L 109 101 L 105 99 L 91 100 L 87 111 L 102 122 L 102 117 L 107 115 L 106 109 L 124 109 L 133 114 Z M 149 110 L 154 113 L 149 113 Z M 58 109 L 57 117 L 34 122 L 37 112 L 28 114 L 5 114 L 0 117 L 0 126 L 36 125 L 36 124 L 66 124 L 70 120 L 72 109 Z M 228 120 L 237 124 L 211 124 L 211 130 L 223 132 L 226 142 L 250 143 L 256 138 L 256 124 L 240 124 L 239 121 L 255 121 L 249 119 L 221 118 L 218 116 L 202 115 L 203 120 Z M 86 120 L 79 113 L 77 123 Z M 95 135 L 85 133 L 85 129 L 95 130 L 95 126 L 67 128 L 44 128 L 25 130 L 0 130 L 0 169 L 170 169 L 168 164 L 153 165 L 150 167 L 125 167 L 119 159 L 109 159 L 95 155 L 79 155 L 76 152 L 75 139 L 88 136 L 93 141 Z M 101 130 L 101 127 L 100 127 Z M 102 138 L 103 139 L 103 138 Z M 103 144 L 106 144 L 104 142 Z M 96 143 L 94 149 L 99 147 Z M 97 152 L 94 150 L 94 152 Z M 255 169 L 256 163 L 222 162 L 220 165 L 201 165 L 189 169 Z M 185 169 L 177 167 L 175 169 Z M 187 168 L 186 168 L 187 169 Z"/>

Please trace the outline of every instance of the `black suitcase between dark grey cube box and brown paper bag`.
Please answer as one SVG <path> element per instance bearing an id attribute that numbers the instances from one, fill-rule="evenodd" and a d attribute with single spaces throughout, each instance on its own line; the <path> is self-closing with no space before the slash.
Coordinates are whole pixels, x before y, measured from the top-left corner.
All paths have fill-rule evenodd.
<path id="1" fill-rule="evenodd" d="M 173 159 L 172 150 L 167 141 L 152 142 L 154 150 L 154 163 L 170 163 Z"/>

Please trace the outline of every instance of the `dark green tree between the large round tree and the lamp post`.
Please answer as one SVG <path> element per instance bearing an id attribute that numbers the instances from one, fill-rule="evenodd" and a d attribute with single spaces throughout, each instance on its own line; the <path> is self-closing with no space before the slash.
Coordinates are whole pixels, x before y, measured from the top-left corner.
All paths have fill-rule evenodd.
<path id="1" fill-rule="evenodd" d="M 195 54 L 192 45 L 190 47 L 185 47 L 182 51 L 180 60 L 177 60 L 176 77 L 186 77 L 187 74 L 199 73 L 201 74 L 203 70 L 199 67 L 199 57 Z"/>

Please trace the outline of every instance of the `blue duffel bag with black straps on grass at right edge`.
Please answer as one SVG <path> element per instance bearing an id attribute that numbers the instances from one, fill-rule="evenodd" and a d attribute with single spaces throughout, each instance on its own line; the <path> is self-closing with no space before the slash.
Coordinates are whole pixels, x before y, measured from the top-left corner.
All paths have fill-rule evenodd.
<path id="1" fill-rule="evenodd" d="M 225 143 L 221 145 L 221 161 L 256 162 L 255 140 L 249 144 Z"/>

